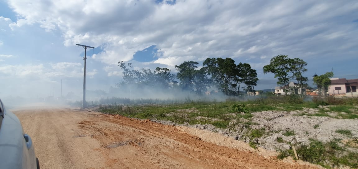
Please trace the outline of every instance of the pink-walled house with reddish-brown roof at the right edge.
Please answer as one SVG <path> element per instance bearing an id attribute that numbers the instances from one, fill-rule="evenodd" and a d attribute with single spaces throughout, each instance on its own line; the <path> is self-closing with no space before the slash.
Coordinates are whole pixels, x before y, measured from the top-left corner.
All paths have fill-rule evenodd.
<path id="1" fill-rule="evenodd" d="M 358 79 L 330 78 L 328 93 L 331 96 L 358 96 Z"/>

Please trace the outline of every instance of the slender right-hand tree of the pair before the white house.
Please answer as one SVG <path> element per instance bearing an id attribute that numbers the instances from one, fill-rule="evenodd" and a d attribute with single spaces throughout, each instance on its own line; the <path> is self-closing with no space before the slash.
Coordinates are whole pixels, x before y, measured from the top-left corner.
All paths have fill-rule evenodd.
<path id="1" fill-rule="evenodd" d="M 297 84 L 299 85 L 299 88 L 302 89 L 304 87 L 307 87 L 308 84 L 306 83 L 308 81 L 308 77 L 304 77 L 302 74 L 307 71 L 305 68 L 307 66 L 307 63 L 299 58 L 294 58 L 291 62 L 291 73 L 292 78 L 297 81 Z M 301 91 L 300 96 L 302 97 L 302 93 L 304 91 Z"/>

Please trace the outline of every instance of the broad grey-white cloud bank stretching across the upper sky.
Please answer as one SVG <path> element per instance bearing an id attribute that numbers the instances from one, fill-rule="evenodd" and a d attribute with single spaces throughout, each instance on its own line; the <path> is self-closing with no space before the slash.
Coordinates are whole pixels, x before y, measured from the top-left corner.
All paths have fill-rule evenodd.
<path id="1" fill-rule="evenodd" d="M 358 3 L 348 0 L 299 4 L 178 0 L 175 5 L 153 0 L 10 0 L 9 4 L 24 18 L 16 26 L 36 22 L 46 31 L 61 30 L 66 46 L 106 44 L 94 59 L 108 65 L 130 61 L 136 51 L 150 45 L 157 45 L 161 54 L 155 63 L 168 66 L 176 64 L 170 61 L 173 58 L 183 61 L 191 56 L 197 61 L 202 57 L 273 56 L 287 52 L 282 45 L 296 48 L 294 53 L 301 55 L 305 38 L 311 38 L 314 47 L 323 38 L 337 40 L 357 32 L 353 25 L 336 26 L 337 15 L 347 15 L 346 21 L 354 18 L 349 12 L 356 11 Z"/>

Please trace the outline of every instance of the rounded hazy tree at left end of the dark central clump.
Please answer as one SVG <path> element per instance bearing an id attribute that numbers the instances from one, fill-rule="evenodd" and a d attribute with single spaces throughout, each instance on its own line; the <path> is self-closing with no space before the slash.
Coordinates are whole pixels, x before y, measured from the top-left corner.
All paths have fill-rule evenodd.
<path id="1" fill-rule="evenodd" d="M 180 80 L 182 89 L 202 94 L 203 91 L 206 91 L 208 78 L 203 68 L 196 70 L 198 64 L 195 61 L 185 61 L 179 66 L 175 65 L 176 70 L 179 71 L 176 77 Z"/>

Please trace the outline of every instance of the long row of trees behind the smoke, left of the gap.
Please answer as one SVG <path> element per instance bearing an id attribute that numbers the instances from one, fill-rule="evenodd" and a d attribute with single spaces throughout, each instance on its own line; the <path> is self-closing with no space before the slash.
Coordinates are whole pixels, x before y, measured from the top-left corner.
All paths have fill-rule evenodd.
<path id="1" fill-rule="evenodd" d="M 118 86 L 144 85 L 168 89 L 177 86 L 197 94 L 203 94 L 208 88 L 216 87 L 224 94 L 238 96 L 241 89 L 253 92 L 258 81 L 256 70 L 253 70 L 250 64 L 240 62 L 236 65 L 231 58 L 207 58 L 202 68 L 199 69 L 198 65 L 195 61 L 175 65 L 178 73 L 174 75 L 168 68 L 160 67 L 153 72 L 147 68 L 133 70 L 132 63 L 121 61 L 118 62 L 118 66 L 123 71 L 123 81 Z M 244 88 L 241 88 L 241 83 L 245 84 Z"/>

